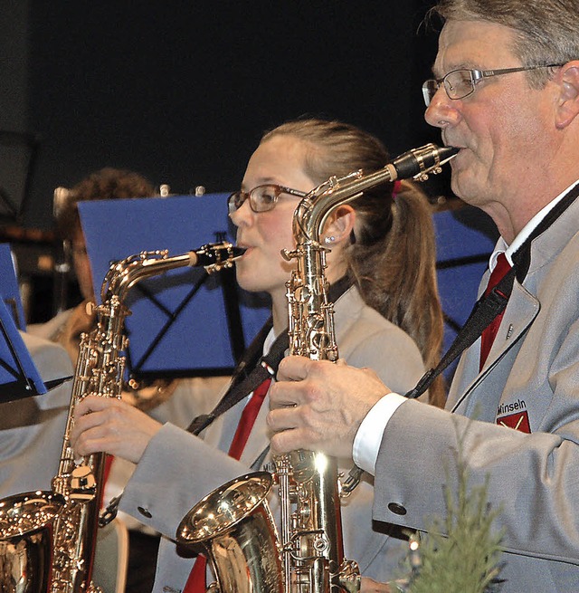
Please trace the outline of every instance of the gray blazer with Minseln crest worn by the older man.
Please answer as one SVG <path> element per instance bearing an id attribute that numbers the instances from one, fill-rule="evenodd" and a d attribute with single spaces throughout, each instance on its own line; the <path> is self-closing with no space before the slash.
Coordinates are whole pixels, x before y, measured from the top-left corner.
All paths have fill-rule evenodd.
<path id="1" fill-rule="evenodd" d="M 375 519 L 423 529 L 425 518 L 445 515 L 444 468 L 454 488 L 457 435 L 465 435 L 471 483 L 489 476 L 489 502 L 501 507 L 503 593 L 579 590 L 578 229 L 575 200 L 533 242 L 482 372 L 480 340 L 463 354 L 447 403 L 453 414 L 405 402 L 376 464 Z M 528 422 L 531 434 L 500 426 L 509 421 Z"/>

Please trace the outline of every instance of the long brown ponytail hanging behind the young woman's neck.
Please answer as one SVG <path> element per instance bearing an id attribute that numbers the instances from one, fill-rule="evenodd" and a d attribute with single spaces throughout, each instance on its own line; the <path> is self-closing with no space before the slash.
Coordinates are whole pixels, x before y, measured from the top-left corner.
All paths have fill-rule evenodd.
<path id="1" fill-rule="evenodd" d="M 347 250 L 348 269 L 366 304 L 403 329 L 418 345 L 426 367 L 434 368 L 441 356 L 443 320 L 432 208 L 415 183 L 396 185 L 389 231 L 375 242 L 365 241 L 364 232 L 358 240 L 356 233 L 356 243 Z M 366 216 L 361 208 L 363 228 L 371 225 Z M 429 391 L 430 402 L 444 406 L 441 377 Z"/>

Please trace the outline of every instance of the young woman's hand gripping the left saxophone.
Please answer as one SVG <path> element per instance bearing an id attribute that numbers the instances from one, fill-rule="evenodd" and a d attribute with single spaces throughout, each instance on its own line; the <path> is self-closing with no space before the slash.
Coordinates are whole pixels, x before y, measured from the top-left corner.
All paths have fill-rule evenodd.
<path id="1" fill-rule="evenodd" d="M 138 464 L 161 426 L 116 397 L 87 396 L 75 409 L 71 445 L 77 455 L 105 452 Z"/>

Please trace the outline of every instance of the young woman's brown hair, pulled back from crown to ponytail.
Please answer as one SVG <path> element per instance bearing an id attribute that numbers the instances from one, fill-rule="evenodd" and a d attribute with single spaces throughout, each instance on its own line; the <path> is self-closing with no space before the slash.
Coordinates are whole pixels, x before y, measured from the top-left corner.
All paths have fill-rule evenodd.
<path id="1" fill-rule="evenodd" d="M 315 183 L 356 169 L 372 173 L 390 160 L 384 144 L 355 126 L 326 120 L 295 120 L 267 132 L 306 143 L 304 172 Z M 431 206 L 416 184 L 384 183 L 351 203 L 356 210 L 353 243 L 346 250 L 348 272 L 365 303 L 402 328 L 416 342 L 424 364 L 441 356 L 443 320 L 436 282 Z M 443 405 L 444 387 L 430 389 L 431 402 Z"/>

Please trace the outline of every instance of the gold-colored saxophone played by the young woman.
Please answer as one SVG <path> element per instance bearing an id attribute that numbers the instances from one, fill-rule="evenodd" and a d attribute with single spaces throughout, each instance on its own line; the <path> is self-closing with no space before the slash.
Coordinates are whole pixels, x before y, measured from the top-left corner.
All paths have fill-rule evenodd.
<path id="1" fill-rule="evenodd" d="M 233 265 L 243 250 L 230 243 L 206 244 L 168 257 L 143 252 L 114 263 L 96 307 L 97 325 L 82 334 L 72 384 L 62 455 L 51 492 L 16 494 L 0 501 L 0 589 L 3 593 L 87 593 L 91 581 L 105 454 L 75 460 L 70 445 L 74 410 L 83 397 L 120 397 L 128 345 L 124 301 L 138 282 L 185 266 L 212 273 Z"/>

